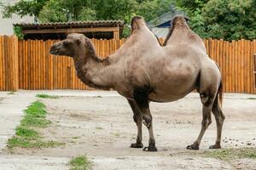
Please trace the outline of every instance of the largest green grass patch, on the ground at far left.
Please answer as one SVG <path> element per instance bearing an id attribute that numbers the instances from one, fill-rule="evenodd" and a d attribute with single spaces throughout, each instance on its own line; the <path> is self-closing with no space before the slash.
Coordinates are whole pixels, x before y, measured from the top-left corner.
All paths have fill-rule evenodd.
<path id="1" fill-rule="evenodd" d="M 50 123 L 46 119 L 47 111 L 45 105 L 36 101 L 29 105 L 24 111 L 25 116 L 20 122 L 20 126 L 16 127 L 16 135 L 8 140 L 8 148 L 49 148 L 59 146 L 62 143 L 55 141 L 44 141 L 43 137 L 38 133 L 38 128 L 47 127 Z"/>

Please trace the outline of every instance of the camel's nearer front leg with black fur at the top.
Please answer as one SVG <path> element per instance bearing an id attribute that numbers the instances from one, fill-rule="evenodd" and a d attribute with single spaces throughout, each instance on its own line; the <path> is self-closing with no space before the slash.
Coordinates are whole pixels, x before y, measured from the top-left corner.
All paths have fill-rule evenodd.
<path id="1" fill-rule="evenodd" d="M 135 90 L 134 91 L 134 99 L 135 99 L 138 109 L 143 117 L 143 124 L 146 127 L 148 127 L 148 133 L 149 133 L 148 147 L 145 147 L 143 150 L 144 151 L 157 151 L 157 148 L 155 147 L 152 116 L 149 111 L 147 93 L 143 90 Z"/>

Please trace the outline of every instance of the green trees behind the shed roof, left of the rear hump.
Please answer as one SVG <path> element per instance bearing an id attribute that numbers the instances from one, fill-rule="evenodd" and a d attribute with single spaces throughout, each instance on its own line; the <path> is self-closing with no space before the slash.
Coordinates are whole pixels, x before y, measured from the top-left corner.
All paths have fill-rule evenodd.
<path id="1" fill-rule="evenodd" d="M 3 16 L 21 17 L 29 14 L 40 22 L 66 22 L 69 20 L 125 20 L 123 37 L 130 35 L 131 18 L 142 15 L 145 20 L 170 11 L 174 0 L 20 0 L 3 7 Z"/>

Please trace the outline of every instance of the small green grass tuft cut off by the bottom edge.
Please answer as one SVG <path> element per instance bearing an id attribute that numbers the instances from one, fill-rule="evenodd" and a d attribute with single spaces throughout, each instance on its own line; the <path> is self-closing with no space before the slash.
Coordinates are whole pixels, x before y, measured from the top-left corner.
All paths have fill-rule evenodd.
<path id="1" fill-rule="evenodd" d="M 70 170 L 88 170 L 90 169 L 90 161 L 86 156 L 76 156 L 69 161 Z"/>

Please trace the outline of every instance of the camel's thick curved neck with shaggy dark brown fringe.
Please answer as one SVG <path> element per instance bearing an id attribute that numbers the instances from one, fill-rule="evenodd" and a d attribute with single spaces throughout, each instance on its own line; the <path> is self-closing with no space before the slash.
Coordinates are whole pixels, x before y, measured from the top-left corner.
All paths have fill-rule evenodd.
<path id="1" fill-rule="evenodd" d="M 84 57 L 74 57 L 74 65 L 79 79 L 91 88 L 113 88 L 113 72 L 109 71 L 107 59 L 99 59 L 95 51 Z"/>

